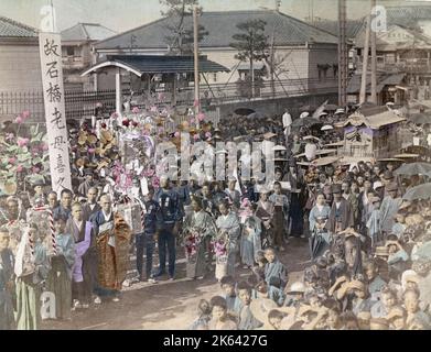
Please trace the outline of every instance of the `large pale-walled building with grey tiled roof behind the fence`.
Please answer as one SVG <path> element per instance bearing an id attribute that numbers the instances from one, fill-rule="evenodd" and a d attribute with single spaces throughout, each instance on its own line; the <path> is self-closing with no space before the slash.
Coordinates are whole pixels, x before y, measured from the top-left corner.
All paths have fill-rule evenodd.
<path id="1" fill-rule="evenodd" d="M 233 36 L 241 33 L 238 24 L 258 19 L 266 22 L 265 34 L 269 46 L 273 42 L 273 62 L 277 62 L 277 66 L 273 65 L 273 76 L 276 81 L 283 82 L 278 85 L 280 90 L 284 89 L 289 94 L 331 86 L 335 87 L 336 91 L 337 37 L 288 14 L 270 10 L 203 12 L 200 15 L 200 25 L 208 32 L 200 43 L 200 54 L 230 69 L 205 74 L 205 81 L 223 86 L 247 76 L 249 64 L 235 57 L 237 50 L 230 44 L 234 42 Z M 168 38 L 172 37 L 172 29 L 175 25 L 176 18 L 162 18 L 100 41 L 94 46 L 97 59 L 104 61 L 108 55 L 125 54 L 169 55 L 172 43 Z M 184 29 L 192 28 L 193 19 L 186 15 Z M 271 79 L 268 62 L 256 62 L 254 67 L 257 75 L 263 76 L 263 80 Z M 99 89 L 115 86 L 114 76 L 97 75 Z M 123 77 L 122 81 L 128 81 L 127 77 Z M 270 89 L 268 85 L 260 94 L 270 94 Z"/>

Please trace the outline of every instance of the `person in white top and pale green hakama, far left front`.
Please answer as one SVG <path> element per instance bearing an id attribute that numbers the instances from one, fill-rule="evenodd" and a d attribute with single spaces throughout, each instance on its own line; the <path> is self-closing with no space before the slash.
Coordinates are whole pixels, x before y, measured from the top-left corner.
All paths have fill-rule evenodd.
<path id="1" fill-rule="evenodd" d="M 17 328 L 37 330 L 41 321 L 42 282 L 50 272 L 50 260 L 36 224 L 31 224 L 19 244 L 17 275 Z"/>

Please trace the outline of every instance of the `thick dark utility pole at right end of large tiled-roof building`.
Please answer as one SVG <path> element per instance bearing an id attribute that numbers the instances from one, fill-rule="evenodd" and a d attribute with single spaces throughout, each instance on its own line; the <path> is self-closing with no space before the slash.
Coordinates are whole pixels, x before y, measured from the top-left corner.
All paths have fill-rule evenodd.
<path id="1" fill-rule="evenodd" d="M 338 0 L 338 106 L 347 105 L 348 48 L 346 0 Z"/>

